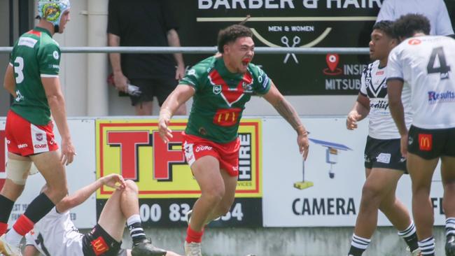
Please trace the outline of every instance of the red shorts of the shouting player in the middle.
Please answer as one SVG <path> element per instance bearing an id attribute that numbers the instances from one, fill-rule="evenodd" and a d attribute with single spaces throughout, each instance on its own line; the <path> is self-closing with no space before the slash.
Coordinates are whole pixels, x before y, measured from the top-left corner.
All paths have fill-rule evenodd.
<path id="1" fill-rule="evenodd" d="M 190 166 L 197 159 L 211 155 L 220 162 L 220 169 L 225 169 L 230 176 L 239 176 L 239 148 L 239 138 L 229 143 L 216 143 L 183 132 L 182 150 Z"/>

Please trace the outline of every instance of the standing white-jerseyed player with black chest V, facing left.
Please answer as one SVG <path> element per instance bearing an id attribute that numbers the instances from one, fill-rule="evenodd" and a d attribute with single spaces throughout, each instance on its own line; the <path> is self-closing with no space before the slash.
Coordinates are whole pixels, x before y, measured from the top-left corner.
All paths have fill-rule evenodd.
<path id="1" fill-rule="evenodd" d="M 405 205 L 395 197 L 398 180 L 406 173 L 406 161 L 400 154 L 400 134 L 388 110 L 386 66 L 388 53 L 398 44 L 393 35 L 393 22 L 383 20 L 373 26 L 370 58 L 374 62 L 362 72 L 357 101 L 346 119 L 347 129 L 370 116 L 365 145 L 365 174 L 362 199 L 352 236 L 351 256 L 360 256 L 370 244 L 377 227 L 378 209 L 386 215 L 398 234 L 405 239 L 411 255 L 419 255 L 416 229 Z M 410 92 L 403 94 L 407 127 L 411 124 Z"/>

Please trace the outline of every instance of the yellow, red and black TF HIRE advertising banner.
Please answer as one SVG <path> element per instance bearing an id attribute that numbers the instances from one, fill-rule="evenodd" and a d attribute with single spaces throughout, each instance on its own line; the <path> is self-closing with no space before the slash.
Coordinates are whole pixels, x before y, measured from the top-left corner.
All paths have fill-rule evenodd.
<path id="1" fill-rule="evenodd" d="M 139 187 L 141 217 L 146 225 L 186 225 L 185 214 L 200 197 L 199 186 L 182 153 L 187 120 L 172 120 L 173 138 L 164 143 L 158 120 L 97 120 L 97 177 L 119 173 Z M 239 127 L 239 181 L 236 201 L 218 225 L 262 226 L 261 120 L 244 119 Z M 97 192 L 103 203 L 109 187 Z M 98 204 L 100 213 L 102 204 Z M 254 216 L 254 220 L 253 220 Z M 216 223 L 214 223 L 216 225 Z"/>

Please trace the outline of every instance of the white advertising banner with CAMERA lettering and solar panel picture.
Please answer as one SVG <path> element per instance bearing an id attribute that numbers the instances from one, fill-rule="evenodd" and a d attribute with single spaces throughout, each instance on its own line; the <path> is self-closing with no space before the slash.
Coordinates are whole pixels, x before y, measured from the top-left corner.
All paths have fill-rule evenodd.
<path id="1" fill-rule="evenodd" d="M 352 227 L 365 182 L 367 120 L 354 131 L 346 129 L 344 118 L 306 118 L 302 122 L 311 131 L 306 162 L 297 153 L 295 132 L 289 125 L 281 118 L 264 120 L 264 226 Z M 437 167 L 431 191 L 435 225 L 445 221 L 442 194 Z M 400 178 L 396 195 L 412 212 L 409 175 Z M 378 225 L 391 223 L 380 213 Z"/>

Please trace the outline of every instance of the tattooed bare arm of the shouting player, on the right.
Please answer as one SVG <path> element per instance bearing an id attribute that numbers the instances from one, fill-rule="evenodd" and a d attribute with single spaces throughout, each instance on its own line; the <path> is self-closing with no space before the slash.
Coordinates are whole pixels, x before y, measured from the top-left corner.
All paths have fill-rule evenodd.
<path id="1" fill-rule="evenodd" d="M 264 95 L 264 99 L 269 101 L 276 111 L 297 131 L 297 145 L 299 145 L 300 154 L 303 155 L 304 159 L 307 159 L 309 148 L 308 132 L 302 122 L 300 122 L 300 118 L 294 107 L 289 101 L 284 99 L 283 94 L 279 92 L 274 83 L 270 86 L 269 92 Z"/>

